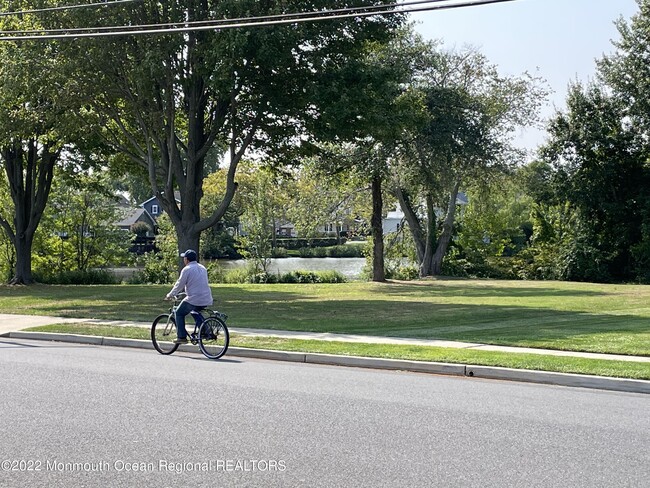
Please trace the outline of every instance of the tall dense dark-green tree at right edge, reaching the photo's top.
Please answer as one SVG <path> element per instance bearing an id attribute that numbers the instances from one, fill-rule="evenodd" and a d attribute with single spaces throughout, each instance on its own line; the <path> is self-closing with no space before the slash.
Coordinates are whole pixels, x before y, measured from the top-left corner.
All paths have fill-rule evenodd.
<path id="1" fill-rule="evenodd" d="M 556 199 L 575 215 L 558 249 L 566 279 L 647 281 L 650 277 L 650 2 L 617 21 L 616 50 L 597 62 L 598 79 L 574 84 L 567 110 L 551 121 L 543 156 Z"/>

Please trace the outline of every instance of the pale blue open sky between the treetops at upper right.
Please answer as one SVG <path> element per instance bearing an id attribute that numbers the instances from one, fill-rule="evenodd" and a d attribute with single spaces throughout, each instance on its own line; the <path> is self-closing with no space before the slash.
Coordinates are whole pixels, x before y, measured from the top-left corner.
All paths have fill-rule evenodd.
<path id="1" fill-rule="evenodd" d="M 553 93 L 541 115 L 564 109 L 571 81 L 587 82 L 595 60 L 613 52 L 618 39 L 614 21 L 638 12 L 636 0 L 514 0 L 477 7 L 412 14 L 425 39 L 445 47 L 478 48 L 504 75 L 525 71 L 547 80 Z M 516 141 L 533 150 L 544 142 L 543 130 L 522 131 Z"/>

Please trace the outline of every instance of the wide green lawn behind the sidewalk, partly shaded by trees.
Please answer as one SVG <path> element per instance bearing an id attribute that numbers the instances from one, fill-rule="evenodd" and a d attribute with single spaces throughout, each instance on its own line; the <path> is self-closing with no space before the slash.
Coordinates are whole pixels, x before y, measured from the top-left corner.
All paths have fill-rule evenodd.
<path id="1" fill-rule="evenodd" d="M 151 321 L 168 286 L 0 287 L 0 313 Z M 650 286 L 433 280 L 214 285 L 232 327 L 650 356 Z"/>

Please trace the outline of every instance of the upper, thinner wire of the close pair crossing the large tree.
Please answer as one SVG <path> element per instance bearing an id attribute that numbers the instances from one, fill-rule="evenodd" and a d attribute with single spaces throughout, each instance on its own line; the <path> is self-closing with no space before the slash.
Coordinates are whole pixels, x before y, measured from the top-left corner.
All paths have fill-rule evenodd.
<path id="1" fill-rule="evenodd" d="M 138 0 L 141 1 L 141 0 Z M 262 15 L 258 17 L 239 17 L 232 19 L 214 19 L 214 20 L 198 20 L 198 21 L 185 21 L 185 22 L 168 22 L 164 24 L 141 24 L 141 25 L 120 25 L 120 26 L 104 26 L 104 27 L 76 27 L 69 29 L 34 29 L 34 30 L 9 30 L 3 31 L 0 30 L 0 34 L 35 34 L 41 33 L 43 35 L 47 34 L 57 34 L 64 32 L 109 32 L 112 30 L 125 30 L 131 31 L 136 29 L 141 30 L 152 30 L 155 28 L 179 28 L 187 26 L 200 26 L 200 25 L 210 25 L 210 26 L 219 26 L 226 23 L 237 23 L 237 22 L 258 22 L 265 20 L 275 20 L 275 19 L 294 19 L 301 18 L 306 16 L 331 16 L 333 14 L 346 13 L 346 12 L 371 12 L 377 10 L 389 10 L 396 7 L 408 7 L 412 5 L 421 5 L 421 4 L 431 4 L 431 3 L 440 3 L 440 2 L 450 2 L 453 0 L 419 0 L 419 1 L 410 1 L 410 2 L 395 2 L 395 3 L 385 3 L 382 5 L 368 5 L 362 7 L 346 7 L 333 10 L 323 10 L 323 11 L 313 11 L 313 12 L 299 12 L 299 13 L 288 13 L 288 14 L 275 14 L 275 15 Z M 457 0 L 456 0 L 457 1 Z M 399 10 L 402 11 L 402 10 Z M 399 12 L 398 11 L 398 12 Z"/>

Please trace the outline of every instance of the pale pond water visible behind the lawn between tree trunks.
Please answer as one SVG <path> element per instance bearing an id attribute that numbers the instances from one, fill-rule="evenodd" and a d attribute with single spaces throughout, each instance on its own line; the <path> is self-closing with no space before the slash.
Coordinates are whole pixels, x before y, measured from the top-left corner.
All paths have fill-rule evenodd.
<path id="1" fill-rule="evenodd" d="M 219 265 L 225 270 L 246 266 L 244 259 L 230 261 L 220 259 Z M 271 259 L 269 273 L 284 274 L 291 271 L 328 271 L 334 270 L 348 279 L 358 279 L 361 275 L 364 258 L 274 258 Z"/>

